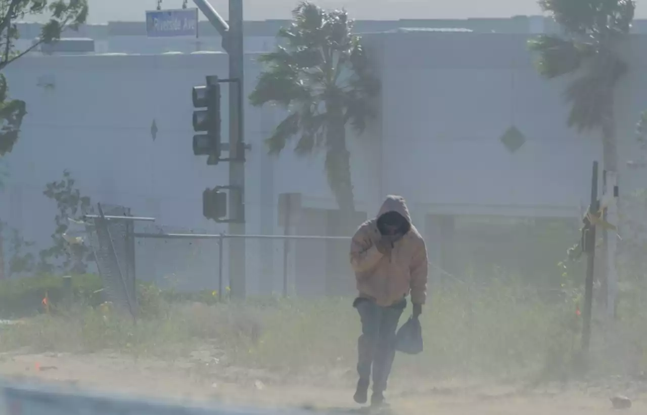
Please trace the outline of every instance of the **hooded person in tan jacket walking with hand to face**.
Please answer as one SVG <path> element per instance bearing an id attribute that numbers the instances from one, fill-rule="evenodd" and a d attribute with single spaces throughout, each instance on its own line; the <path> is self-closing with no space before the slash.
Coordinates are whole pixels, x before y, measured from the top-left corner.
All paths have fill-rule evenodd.
<path id="1" fill-rule="evenodd" d="M 366 403 L 373 373 L 371 405 L 385 403 L 384 391 L 395 358 L 398 322 L 411 294 L 413 317 L 426 301 L 427 249 L 411 223 L 403 197 L 388 196 L 375 219 L 363 223 L 351 241 L 350 260 L 362 322 L 358 339 L 356 403 Z"/>

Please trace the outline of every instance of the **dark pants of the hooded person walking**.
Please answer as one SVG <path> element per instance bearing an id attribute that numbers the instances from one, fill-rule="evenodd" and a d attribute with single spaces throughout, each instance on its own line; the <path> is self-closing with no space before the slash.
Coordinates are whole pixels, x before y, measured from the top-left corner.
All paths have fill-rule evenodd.
<path id="1" fill-rule="evenodd" d="M 366 298 L 357 298 L 353 306 L 362 320 L 362 335 L 357 342 L 360 383 L 368 387 L 372 367 L 373 392 L 384 392 L 395 358 L 395 332 L 406 300 L 380 307 Z"/>

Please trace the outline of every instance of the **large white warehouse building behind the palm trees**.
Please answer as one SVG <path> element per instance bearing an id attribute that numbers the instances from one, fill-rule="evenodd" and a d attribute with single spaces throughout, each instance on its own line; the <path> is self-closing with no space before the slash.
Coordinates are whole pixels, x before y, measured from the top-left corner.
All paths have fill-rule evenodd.
<path id="1" fill-rule="evenodd" d="M 349 137 L 357 210 L 370 217 L 386 194 L 401 194 L 430 247 L 444 238 L 439 226 L 452 228 L 455 218 L 466 215 L 578 218 L 588 203 L 591 162 L 601 160 L 600 140 L 566 128 L 564 83 L 547 83 L 536 74 L 527 36 L 415 30 L 366 36 L 382 79 L 382 98 L 380 119 L 364 137 Z M 646 45 L 642 36 L 631 39 L 626 53 L 631 71 L 618 88 L 621 159 L 630 159 L 631 131 L 647 107 L 641 71 Z M 246 56 L 246 94 L 259 74 L 255 58 Z M 54 206 L 43 188 L 67 169 L 94 202 L 124 205 L 167 229 L 225 230 L 201 214 L 204 188 L 225 185 L 228 170 L 226 163 L 206 166 L 192 153 L 190 93 L 193 85 L 204 84 L 204 76 L 226 76 L 226 71 L 227 56 L 221 53 L 55 54 L 12 64 L 6 70 L 11 95 L 27 102 L 28 115 L 19 142 L 5 157 L 10 178 L 0 197 L 0 217 L 45 246 Z M 281 112 L 245 110 L 245 140 L 252 146 L 245 167 L 248 234 L 283 233 L 276 207 L 283 192 L 303 196 L 306 209 L 297 232 L 338 233 L 331 225 L 336 204 L 322 155 L 298 159 L 285 151 L 278 159 L 270 157 L 263 139 Z M 227 120 L 225 109 L 225 135 Z M 500 140 L 512 126 L 525 137 L 516 151 Z M 641 185 L 628 175 L 622 179 L 623 191 Z M 213 262 L 196 265 L 179 258 L 186 247 L 177 241 L 145 243 L 170 245 L 155 258 L 141 256 L 138 266 L 166 261 L 175 264 L 176 274 L 192 274 L 189 286 L 214 286 Z M 201 254 L 213 260 L 215 243 L 201 244 Z M 320 292 L 330 275 L 350 284 L 340 260 L 347 243 L 291 246 L 296 271 L 290 278 L 301 278 L 291 282 L 298 291 Z M 282 241 L 247 242 L 250 293 L 280 291 L 282 250 Z M 155 271 L 146 278 L 173 272 Z"/>

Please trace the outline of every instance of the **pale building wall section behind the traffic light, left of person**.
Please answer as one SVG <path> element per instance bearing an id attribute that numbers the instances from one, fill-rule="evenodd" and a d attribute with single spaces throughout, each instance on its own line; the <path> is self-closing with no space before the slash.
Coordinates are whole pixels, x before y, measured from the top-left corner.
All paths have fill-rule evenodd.
<path id="1" fill-rule="evenodd" d="M 228 183 L 228 167 L 208 167 L 204 157 L 193 155 L 190 94 L 193 85 L 204 84 L 206 74 L 226 77 L 226 68 L 224 54 L 45 56 L 16 62 L 6 74 L 12 96 L 26 100 L 29 113 L 19 142 L 4 160 L 10 177 L 0 198 L 0 217 L 44 247 L 52 232 L 54 204 L 42 192 L 45 183 L 60 179 L 67 169 L 94 202 L 125 205 L 133 214 L 157 218 L 167 230 L 225 231 L 225 226 L 203 218 L 201 197 L 204 188 Z M 246 57 L 246 71 L 248 93 L 259 73 L 254 55 Z M 223 102 L 227 96 L 223 87 Z M 252 150 L 247 154 L 245 199 L 250 234 L 282 234 L 276 205 L 283 192 L 303 192 L 305 207 L 336 207 L 323 174 L 322 154 L 306 159 L 296 159 L 291 151 L 278 159 L 267 155 L 263 139 L 282 115 L 278 109 L 247 106 L 246 140 Z M 159 130 L 155 140 L 153 120 Z M 225 137 L 227 131 L 225 108 Z M 353 168 L 362 170 L 361 160 L 358 155 Z M 358 186 L 358 208 L 366 205 L 366 188 Z M 214 260 L 215 244 L 202 245 L 203 254 Z M 151 247 L 148 259 L 138 264 L 167 267 L 150 271 L 155 278 L 179 275 L 191 267 L 214 283 L 217 262 L 180 264 L 178 252 L 189 249 L 188 243 L 147 241 L 141 249 L 146 251 L 146 246 Z M 250 276 L 276 276 L 280 281 L 282 243 L 250 240 L 247 246 Z M 268 272 L 266 264 L 274 256 L 277 269 Z M 173 262 L 177 272 L 168 270 Z M 258 287 L 253 278 L 251 293 Z"/>

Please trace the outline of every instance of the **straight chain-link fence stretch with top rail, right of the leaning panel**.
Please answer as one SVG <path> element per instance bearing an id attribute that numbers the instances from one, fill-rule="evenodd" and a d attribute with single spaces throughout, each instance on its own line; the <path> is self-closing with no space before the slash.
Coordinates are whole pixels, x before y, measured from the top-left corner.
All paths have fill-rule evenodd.
<path id="1" fill-rule="evenodd" d="M 209 290 L 226 296 L 230 242 L 234 239 L 245 240 L 248 295 L 353 292 L 350 238 L 333 236 L 207 234 L 147 225 L 135 233 L 137 276 L 160 288 Z"/>

